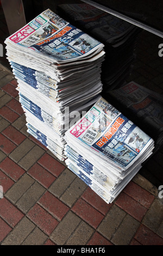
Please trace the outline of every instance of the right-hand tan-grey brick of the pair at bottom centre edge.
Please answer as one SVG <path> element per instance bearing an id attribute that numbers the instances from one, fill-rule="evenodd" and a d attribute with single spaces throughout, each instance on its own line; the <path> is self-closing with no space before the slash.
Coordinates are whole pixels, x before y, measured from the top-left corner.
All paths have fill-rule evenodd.
<path id="1" fill-rule="evenodd" d="M 70 239 L 66 242 L 66 245 L 86 245 L 92 236 L 94 230 L 89 224 L 81 222 L 77 229 L 74 231 Z"/>

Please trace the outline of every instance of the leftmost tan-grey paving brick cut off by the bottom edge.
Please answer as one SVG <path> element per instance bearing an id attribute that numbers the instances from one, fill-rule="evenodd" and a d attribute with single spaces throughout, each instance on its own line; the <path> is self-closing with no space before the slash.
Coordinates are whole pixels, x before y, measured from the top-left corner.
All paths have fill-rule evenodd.
<path id="1" fill-rule="evenodd" d="M 28 218 L 24 217 L 7 238 L 4 239 L 2 245 L 21 245 L 34 228 L 35 225 Z"/>

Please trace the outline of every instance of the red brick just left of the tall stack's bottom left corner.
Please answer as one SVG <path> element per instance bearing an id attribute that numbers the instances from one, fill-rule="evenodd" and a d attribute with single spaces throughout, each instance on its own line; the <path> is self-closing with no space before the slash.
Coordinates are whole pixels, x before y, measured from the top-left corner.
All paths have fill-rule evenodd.
<path id="1" fill-rule="evenodd" d="M 3 130 L 3 135 L 10 139 L 10 141 L 14 142 L 16 145 L 21 144 L 26 136 L 24 136 L 20 131 L 16 130 L 13 126 L 8 126 L 5 130 Z"/>

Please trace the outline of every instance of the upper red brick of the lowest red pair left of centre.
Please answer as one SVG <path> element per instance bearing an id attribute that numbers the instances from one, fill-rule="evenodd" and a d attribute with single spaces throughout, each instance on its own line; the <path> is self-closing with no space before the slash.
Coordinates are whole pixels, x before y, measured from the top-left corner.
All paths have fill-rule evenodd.
<path id="1" fill-rule="evenodd" d="M 50 214 L 52 214 L 59 221 L 65 216 L 69 210 L 68 206 L 62 203 L 57 197 L 48 191 L 41 197 L 39 204 L 42 205 Z"/>

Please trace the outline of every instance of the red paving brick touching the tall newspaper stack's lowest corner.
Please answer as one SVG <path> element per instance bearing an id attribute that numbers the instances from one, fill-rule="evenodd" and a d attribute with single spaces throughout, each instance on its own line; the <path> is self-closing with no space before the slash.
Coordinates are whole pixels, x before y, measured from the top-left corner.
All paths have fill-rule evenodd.
<path id="1" fill-rule="evenodd" d="M 38 163 L 40 163 L 41 166 L 46 168 L 50 173 L 52 173 L 56 177 L 58 177 L 59 174 L 65 169 L 65 166 L 63 164 L 53 159 L 53 157 L 48 155 L 47 153 L 41 157 Z"/>

